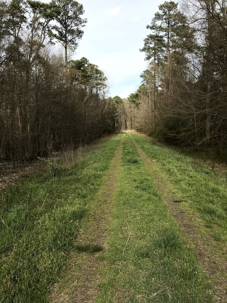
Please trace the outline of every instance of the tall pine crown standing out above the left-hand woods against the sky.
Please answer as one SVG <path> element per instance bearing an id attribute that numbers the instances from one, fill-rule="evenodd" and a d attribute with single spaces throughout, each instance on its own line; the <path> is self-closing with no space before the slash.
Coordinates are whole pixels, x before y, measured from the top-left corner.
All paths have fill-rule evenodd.
<path id="1" fill-rule="evenodd" d="M 60 13 L 55 17 L 57 24 L 53 25 L 54 32 L 51 37 L 60 41 L 65 49 L 65 64 L 68 63 L 68 48 L 75 50 L 78 40 L 83 36 L 82 28 L 87 23 L 87 19 L 82 19 L 84 9 L 81 4 L 74 0 L 53 0 Z"/>

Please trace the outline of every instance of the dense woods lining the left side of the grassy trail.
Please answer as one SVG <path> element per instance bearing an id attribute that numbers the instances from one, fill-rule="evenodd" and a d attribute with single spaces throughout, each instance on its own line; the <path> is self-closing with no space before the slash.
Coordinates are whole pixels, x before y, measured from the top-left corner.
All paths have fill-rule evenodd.
<path id="1" fill-rule="evenodd" d="M 103 72 L 86 58 L 68 59 L 83 35 L 83 13 L 73 0 L 1 1 L 1 158 L 32 160 L 115 130 Z"/>

